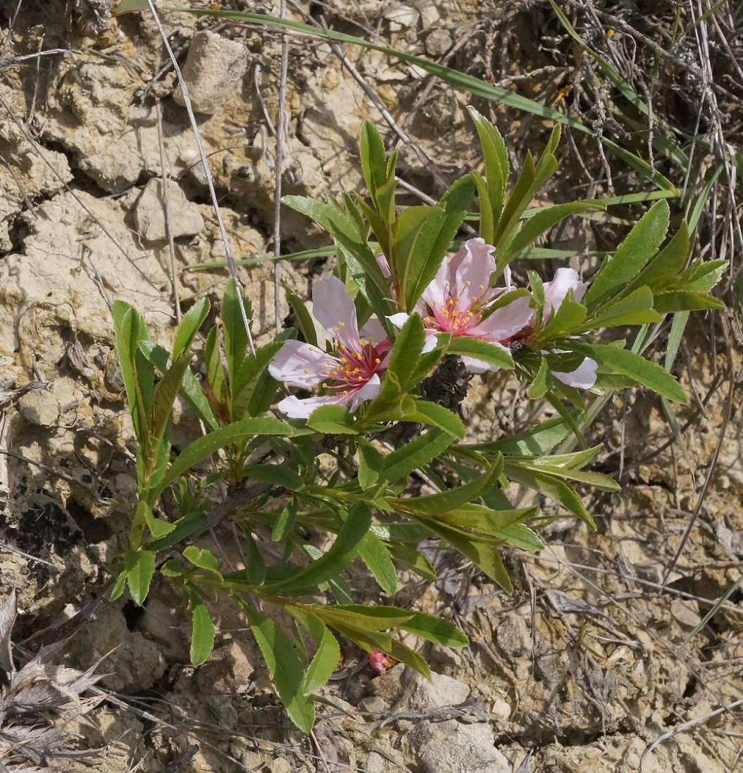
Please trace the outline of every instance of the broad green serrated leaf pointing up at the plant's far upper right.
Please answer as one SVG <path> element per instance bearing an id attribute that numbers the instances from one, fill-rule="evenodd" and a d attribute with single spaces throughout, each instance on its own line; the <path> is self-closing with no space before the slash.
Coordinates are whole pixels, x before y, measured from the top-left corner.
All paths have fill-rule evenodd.
<path id="1" fill-rule="evenodd" d="M 590 311 L 602 301 L 617 295 L 636 278 L 665 238 L 668 222 L 668 203 L 661 199 L 632 228 L 614 256 L 603 262 L 583 298 Z"/>

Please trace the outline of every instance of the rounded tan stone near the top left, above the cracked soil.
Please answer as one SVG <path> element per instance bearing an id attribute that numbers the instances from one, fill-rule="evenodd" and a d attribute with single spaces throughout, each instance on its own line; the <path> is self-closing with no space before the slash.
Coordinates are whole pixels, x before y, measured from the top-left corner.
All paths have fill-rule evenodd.
<path id="1" fill-rule="evenodd" d="M 183 80 L 193 111 L 212 115 L 239 93 L 249 58 L 250 53 L 242 43 L 208 30 L 196 32 L 183 66 Z M 173 99 L 179 105 L 186 104 L 180 85 L 173 92 Z"/>

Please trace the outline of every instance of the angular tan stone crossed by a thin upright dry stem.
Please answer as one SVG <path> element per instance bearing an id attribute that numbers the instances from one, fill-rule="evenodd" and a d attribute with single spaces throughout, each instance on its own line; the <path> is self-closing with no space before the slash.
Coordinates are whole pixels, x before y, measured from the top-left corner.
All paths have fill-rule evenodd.
<path id="1" fill-rule="evenodd" d="M 192 237 L 204 230 L 204 221 L 199 206 L 186 199 L 178 183 L 168 184 L 168 210 L 172 237 Z M 153 178 L 142 191 L 135 206 L 135 225 L 139 236 L 148 242 L 164 241 L 165 201 L 162 196 L 162 180 Z"/>

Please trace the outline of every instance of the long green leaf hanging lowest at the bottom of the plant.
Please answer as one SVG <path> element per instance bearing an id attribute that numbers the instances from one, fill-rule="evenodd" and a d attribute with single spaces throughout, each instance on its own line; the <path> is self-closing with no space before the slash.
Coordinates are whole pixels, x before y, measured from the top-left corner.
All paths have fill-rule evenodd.
<path id="1" fill-rule="evenodd" d="M 315 724 L 315 703 L 304 693 L 305 672 L 291 639 L 263 612 L 240 598 L 236 601 L 247 617 L 289 718 L 309 733 Z"/>

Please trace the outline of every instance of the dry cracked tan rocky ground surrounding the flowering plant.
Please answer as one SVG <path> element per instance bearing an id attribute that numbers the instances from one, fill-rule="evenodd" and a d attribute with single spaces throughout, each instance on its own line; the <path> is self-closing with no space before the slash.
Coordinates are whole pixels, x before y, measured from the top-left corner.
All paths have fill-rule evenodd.
<path id="1" fill-rule="evenodd" d="M 0 594 L 7 598 L 15 587 L 16 642 L 43 638 L 50 625 L 100 598 L 110 580 L 107 565 L 121 549 L 126 519 L 115 502 L 131 502 L 135 477 L 111 302 L 134 305 L 153 335 L 168 342 L 174 294 L 182 309 L 204 296 L 218 303 L 228 276 L 224 267 L 193 269 L 223 261 L 224 247 L 155 22 L 149 13 L 108 20 L 108 5 L 16 0 L 0 8 Z M 335 29 L 379 36 L 588 121 L 595 136 L 567 132 L 561 169 L 544 201 L 650 189 L 620 156 L 603 155 L 600 135 L 640 152 L 646 136 L 626 133 L 602 114 L 613 87 L 586 63 L 549 2 L 288 5 L 291 18 L 325 18 Z M 669 121 L 710 140 L 706 151 L 697 149 L 697 176 L 687 183 L 687 170 L 659 158 L 659 171 L 674 184 L 698 192 L 724 143 L 740 153 L 743 73 L 734 62 L 743 19 L 734 3 L 724 2 L 696 26 L 694 18 L 708 7 L 703 3 L 692 4 L 694 18 L 681 6 L 677 18 L 671 2 L 559 5 L 591 46 L 629 68 L 620 71 L 651 100 L 659 124 Z M 223 8 L 279 10 L 278 3 L 237 0 Z M 336 51 L 297 37 L 288 39 L 282 107 L 277 32 L 161 12 L 181 62 L 196 32 L 220 36 L 221 58 L 201 66 L 213 80 L 200 92 L 195 86 L 195 96 L 199 136 L 236 259 L 273 254 L 277 229 L 285 254 L 327 243 L 290 209 L 275 217 L 282 113 L 282 191 L 316 197 L 362 189 L 356 138 L 365 119 L 377 124 L 388 148 L 400 151 L 411 200 L 418 192 L 439 195 L 479 162 L 467 104 L 499 124 L 514 160 L 527 149 L 538 154 L 552 128 L 544 118 L 452 90 L 382 53 Z M 674 19 L 688 32 L 675 48 L 668 32 Z M 705 31 L 717 89 L 699 56 Z M 209 36 L 200 39 L 208 43 Z M 23 58 L 50 49 L 66 51 Z M 398 135 L 380 107 L 390 111 Z M 628 109 L 627 120 L 639 115 Z M 704 209 L 698 248 L 732 261 L 721 287 L 730 300 L 740 242 L 735 253 L 725 229 L 740 213 L 739 182 L 726 174 L 710 194 L 714 206 Z M 645 206 L 570 222 L 546 244 L 572 250 L 573 264 L 586 266 L 590 259 L 581 254 L 618 243 Z M 680 215 L 683 205 L 675 206 Z M 545 275 L 550 268 L 540 266 Z M 308 297 L 312 281 L 327 271 L 322 258 L 282 261 L 281 281 Z M 289 313 L 283 295 L 276 301 L 273 265 L 239 272 L 254 303 L 254 332 L 268 340 L 276 308 L 280 322 Z M 690 393 L 678 413 L 686 448 L 670 442 L 659 400 L 642 390 L 620 393 L 595 422 L 592 441 L 605 444 L 602 472 L 624 486 L 619 495 L 589 499 L 596 533 L 557 519 L 544 530 L 544 553 L 509 553 L 516 577 L 511 596 L 462 561 L 432 553 L 440 570 L 434 587 L 404 577 L 396 597 L 384 600 L 445 615 L 471 638 L 464 650 L 425 651 L 432 683 L 402 666 L 373 676 L 363 653 L 349 648 L 325 693 L 321 721 L 304 737 L 288 724 L 240 616 L 215 609 L 217 648 L 194 669 L 187 665 L 179 601 L 157 587 L 144 614 L 123 602 L 100 606 L 55 653 L 58 665 L 83 671 L 103 658 L 97 668 L 107 676 L 98 686 L 110 693 L 103 702 L 90 698 L 88 721 L 73 717 L 77 724 L 68 729 L 77 736 L 66 740 L 68 751 L 105 751 L 65 764 L 109 773 L 743 769 L 741 594 L 686 642 L 710 600 L 741 571 L 736 320 L 697 315 L 687 328 L 675 371 Z M 656 340 L 659 356 L 667 335 Z M 526 406 L 523 391 L 497 374 L 472 382 L 465 415 L 473 434 L 493 438 L 517 427 Z M 182 446 L 197 427 L 184 414 L 176 430 Z M 380 600 L 362 574 L 356 587 L 366 601 Z M 7 665 L 2 653 L 0 665 Z M 0 737 L 7 740 L 2 723 L 0 713 Z"/>

